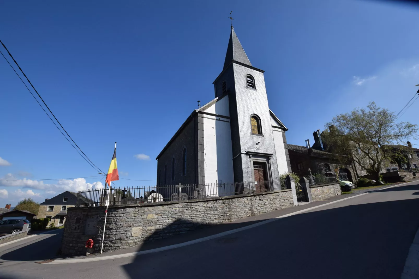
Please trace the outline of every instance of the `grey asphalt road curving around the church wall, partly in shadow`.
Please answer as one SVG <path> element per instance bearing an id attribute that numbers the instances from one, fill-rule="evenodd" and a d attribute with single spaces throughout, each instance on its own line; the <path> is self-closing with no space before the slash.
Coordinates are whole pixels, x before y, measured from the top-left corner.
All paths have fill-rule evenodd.
<path id="1" fill-rule="evenodd" d="M 394 279 L 419 227 L 418 209 L 412 182 L 181 248 L 72 264 L 36 264 L 59 246 L 59 235 L 43 236 L 0 247 L 0 277 Z"/>

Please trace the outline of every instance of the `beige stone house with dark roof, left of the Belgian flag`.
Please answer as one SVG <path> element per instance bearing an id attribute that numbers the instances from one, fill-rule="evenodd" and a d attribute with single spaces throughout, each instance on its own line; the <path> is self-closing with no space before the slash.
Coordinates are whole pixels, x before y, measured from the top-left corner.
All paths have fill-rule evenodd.
<path id="1" fill-rule="evenodd" d="M 51 199 L 45 199 L 45 202 L 39 204 L 37 218 L 49 218 L 47 226 L 54 224 L 59 227 L 65 224 L 67 209 L 74 207 L 77 202 L 77 193 L 65 191 Z"/>

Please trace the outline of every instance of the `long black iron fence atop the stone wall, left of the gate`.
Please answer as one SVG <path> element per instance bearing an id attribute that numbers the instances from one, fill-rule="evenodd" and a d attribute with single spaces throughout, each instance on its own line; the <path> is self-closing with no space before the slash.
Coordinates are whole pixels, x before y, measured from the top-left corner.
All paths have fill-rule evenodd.
<path id="1" fill-rule="evenodd" d="M 149 202 L 172 202 L 189 199 L 204 199 L 217 196 L 264 193 L 287 189 L 285 180 L 251 181 L 235 183 L 210 183 L 204 185 L 179 184 L 139 186 L 111 189 L 87 189 L 77 194 L 76 206 L 104 206 L 142 204 Z"/>

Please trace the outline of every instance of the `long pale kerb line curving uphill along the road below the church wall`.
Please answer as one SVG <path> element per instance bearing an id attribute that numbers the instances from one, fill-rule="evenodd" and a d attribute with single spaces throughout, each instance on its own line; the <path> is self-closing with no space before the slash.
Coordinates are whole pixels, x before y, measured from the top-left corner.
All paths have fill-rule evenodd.
<path id="1" fill-rule="evenodd" d="M 410 183 L 410 182 L 393 185 L 393 186 L 386 187 L 386 188 L 379 189 L 379 190 L 393 188 L 393 187 L 401 186 L 401 185 L 404 185 L 404 184 L 407 184 L 407 183 Z M 379 190 L 377 190 L 377 191 L 379 191 Z M 232 233 L 238 233 L 238 232 L 241 232 L 243 230 L 251 229 L 253 227 L 259 227 L 261 225 L 265 225 L 265 224 L 268 224 L 270 222 L 274 222 L 274 221 L 279 220 L 281 218 L 285 218 L 285 217 L 289 217 L 289 216 L 292 216 L 292 215 L 295 215 L 295 214 L 307 212 L 307 211 L 310 211 L 310 210 L 313 210 L 313 209 L 316 209 L 316 208 L 319 208 L 319 207 L 325 207 L 326 205 L 329 205 L 329 204 L 336 204 L 338 202 L 343 202 L 343 201 L 346 201 L 348 199 L 353 199 L 353 198 L 358 197 L 358 196 L 364 196 L 366 194 L 369 194 L 369 193 L 362 193 L 362 194 L 359 194 L 359 195 L 349 196 L 347 198 L 339 199 L 337 201 L 328 202 L 326 204 L 320 204 L 320 205 L 317 205 L 315 207 L 310 207 L 310 208 L 302 209 L 302 210 L 292 212 L 292 213 L 289 213 L 289 214 L 285 214 L 285 215 L 282 215 L 282 216 L 274 217 L 272 219 L 265 220 L 265 221 L 262 221 L 262 222 L 259 222 L 259 223 L 256 223 L 256 224 L 248 225 L 248 226 L 245 226 L 245 227 L 240 227 L 240 228 L 234 229 L 234 230 L 228 230 L 228 231 L 225 231 L 225 232 L 222 232 L 222 233 L 217 233 L 215 235 L 209 235 L 209 236 L 204 237 L 204 238 L 198 238 L 198 239 L 186 241 L 184 243 L 178 243 L 178 244 L 173 244 L 173 245 L 169 245 L 169 246 L 165 246 L 165 247 L 160 247 L 160 248 L 155 248 L 155 249 L 150 249 L 150 250 L 145 250 L 145 251 L 139 251 L 139 252 L 119 254 L 119 255 L 98 256 L 98 257 L 95 257 L 95 258 L 89 257 L 89 258 L 72 258 L 72 259 L 55 260 L 55 261 L 52 261 L 52 262 L 49 262 L 49 263 L 46 263 L 46 264 L 74 264 L 74 263 L 84 263 L 84 262 L 88 262 L 88 261 L 104 261 L 104 260 L 111 260 L 111 259 L 116 259 L 116 258 L 132 257 L 132 256 L 145 255 L 145 254 L 150 254 L 150 253 L 156 253 L 156 252 L 171 250 L 171 249 L 184 247 L 184 246 L 192 245 L 192 244 L 195 244 L 195 243 L 200 243 L 200 242 L 203 242 L 203 241 L 211 240 L 211 239 L 214 239 L 214 238 L 219 238 L 221 236 L 230 235 Z"/>

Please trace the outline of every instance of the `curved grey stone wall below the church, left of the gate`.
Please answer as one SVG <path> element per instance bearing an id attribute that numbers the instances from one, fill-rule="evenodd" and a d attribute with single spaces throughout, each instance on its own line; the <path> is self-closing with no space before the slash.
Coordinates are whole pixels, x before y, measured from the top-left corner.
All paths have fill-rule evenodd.
<path id="1" fill-rule="evenodd" d="M 155 239 L 170 238 L 199 227 L 227 223 L 292 206 L 291 189 L 185 202 L 112 206 L 108 208 L 103 251 L 121 250 Z M 93 239 L 94 252 L 100 253 L 105 209 L 68 209 L 62 235 L 62 254 L 85 254 L 85 243 L 89 238 Z"/>

